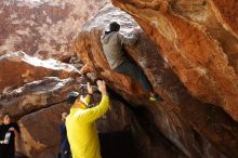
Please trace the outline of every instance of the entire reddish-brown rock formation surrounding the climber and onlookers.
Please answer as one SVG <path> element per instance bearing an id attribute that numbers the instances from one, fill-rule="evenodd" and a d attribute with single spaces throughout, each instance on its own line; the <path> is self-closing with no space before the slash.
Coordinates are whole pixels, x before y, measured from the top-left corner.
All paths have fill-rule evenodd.
<path id="1" fill-rule="evenodd" d="M 80 68 L 77 58 L 69 60 L 76 51 L 88 77 L 106 80 L 111 108 L 97 129 L 106 134 L 103 139 L 129 132 L 132 140 L 121 144 L 119 139 L 106 149 L 101 140 L 105 158 L 238 157 L 237 2 L 113 0 L 132 16 L 107 4 L 81 29 L 104 3 L 2 0 L 0 54 L 24 50 L 41 58 L 75 61 Z M 141 28 L 136 44 L 123 51 L 163 102 L 148 101 L 135 80 L 109 68 L 100 37 L 115 21 L 123 34 Z M 69 110 L 66 95 L 88 79 L 70 65 L 23 52 L 2 55 L 0 64 L 0 114 L 9 111 L 18 120 L 17 150 L 30 158 L 55 158 L 61 114 Z M 95 94 L 94 103 L 100 98 Z"/>

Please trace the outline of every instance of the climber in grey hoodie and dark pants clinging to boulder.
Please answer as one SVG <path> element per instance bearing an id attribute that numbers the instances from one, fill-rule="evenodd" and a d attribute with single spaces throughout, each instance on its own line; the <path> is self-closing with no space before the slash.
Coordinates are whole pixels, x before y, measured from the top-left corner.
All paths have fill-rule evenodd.
<path id="1" fill-rule="evenodd" d="M 109 24 L 109 31 L 105 31 L 105 34 L 101 37 L 103 50 L 110 68 L 119 74 L 137 79 L 144 90 L 149 93 L 150 101 L 162 101 L 162 98 L 154 92 L 148 78 L 142 69 L 136 64 L 129 61 L 122 51 L 123 44 L 132 45 L 136 42 L 138 38 L 137 29 L 135 29 L 134 32 L 129 34 L 128 37 L 120 34 L 119 30 L 120 25 L 113 22 Z"/>

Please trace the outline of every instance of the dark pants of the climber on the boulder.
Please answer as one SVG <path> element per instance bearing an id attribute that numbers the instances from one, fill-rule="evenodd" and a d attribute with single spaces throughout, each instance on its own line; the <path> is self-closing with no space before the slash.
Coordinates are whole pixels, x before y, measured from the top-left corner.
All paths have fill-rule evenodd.
<path id="1" fill-rule="evenodd" d="M 130 76 L 133 79 L 137 80 L 146 92 L 153 91 L 148 78 L 136 64 L 130 61 L 123 61 L 117 68 L 115 68 L 115 70 L 119 74 Z"/>

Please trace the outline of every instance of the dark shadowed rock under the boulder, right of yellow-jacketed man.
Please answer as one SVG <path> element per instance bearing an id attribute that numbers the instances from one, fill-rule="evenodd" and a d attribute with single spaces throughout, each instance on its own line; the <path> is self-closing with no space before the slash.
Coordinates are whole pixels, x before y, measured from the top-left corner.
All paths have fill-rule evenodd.
<path id="1" fill-rule="evenodd" d="M 104 158 L 185 158 L 157 128 L 150 113 L 110 92 L 110 109 L 96 121 Z M 94 96 L 98 100 L 98 96 Z"/>

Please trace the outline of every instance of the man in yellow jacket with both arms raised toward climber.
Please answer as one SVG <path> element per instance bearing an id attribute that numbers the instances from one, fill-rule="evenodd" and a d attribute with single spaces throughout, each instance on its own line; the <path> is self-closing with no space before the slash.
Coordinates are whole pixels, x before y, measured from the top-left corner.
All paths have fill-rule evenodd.
<path id="1" fill-rule="evenodd" d="M 102 93 L 101 103 L 88 108 L 93 88 L 88 83 L 88 94 L 70 92 L 66 102 L 71 104 L 70 114 L 66 118 L 67 136 L 72 158 L 101 158 L 100 140 L 96 132 L 95 120 L 109 108 L 109 97 L 106 84 L 97 80 L 98 91 Z"/>

